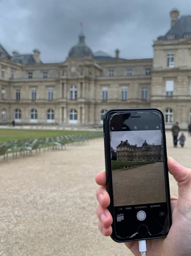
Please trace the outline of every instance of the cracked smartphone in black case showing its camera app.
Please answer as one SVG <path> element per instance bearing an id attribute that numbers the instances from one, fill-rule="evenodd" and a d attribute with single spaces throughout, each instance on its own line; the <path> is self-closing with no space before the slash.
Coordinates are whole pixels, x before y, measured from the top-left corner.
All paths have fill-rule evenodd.
<path id="1" fill-rule="evenodd" d="M 172 220 L 163 113 L 110 109 L 103 130 L 112 239 L 166 237 Z"/>

